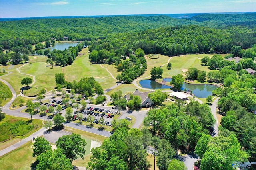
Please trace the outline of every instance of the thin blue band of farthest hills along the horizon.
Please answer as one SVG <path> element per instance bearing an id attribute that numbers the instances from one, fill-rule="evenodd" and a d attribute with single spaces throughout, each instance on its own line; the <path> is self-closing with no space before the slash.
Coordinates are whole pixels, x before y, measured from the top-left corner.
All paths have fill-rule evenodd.
<path id="1" fill-rule="evenodd" d="M 142 16 L 142 15 L 178 15 L 178 14 L 246 14 L 246 13 L 255 13 L 256 11 L 251 12 L 192 12 L 192 13 L 165 13 L 165 14 L 112 14 L 112 15 L 85 15 L 85 16 L 34 16 L 34 17 L 6 17 L 1 19 L 14 19 L 14 18 L 54 18 L 54 17 L 100 17 L 100 16 Z"/>

